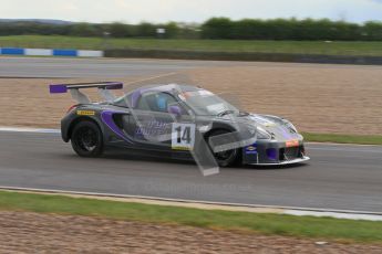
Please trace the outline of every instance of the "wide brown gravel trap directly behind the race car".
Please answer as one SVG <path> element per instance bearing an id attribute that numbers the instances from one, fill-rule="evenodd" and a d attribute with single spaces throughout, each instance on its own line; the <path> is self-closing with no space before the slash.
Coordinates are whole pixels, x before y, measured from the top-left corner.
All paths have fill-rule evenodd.
<path id="1" fill-rule="evenodd" d="M 125 91 L 141 84 L 189 83 L 210 89 L 244 110 L 289 118 L 302 131 L 382 135 L 382 67 L 267 63 L 195 68 L 176 75 L 117 78 Z M 0 78 L 0 126 L 58 128 L 74 104 L 48 85 L 92 80 Z M 96 100 L 95 92 L 90 92 Z M 121 93 L 120 93 L 121 95 Z"/>

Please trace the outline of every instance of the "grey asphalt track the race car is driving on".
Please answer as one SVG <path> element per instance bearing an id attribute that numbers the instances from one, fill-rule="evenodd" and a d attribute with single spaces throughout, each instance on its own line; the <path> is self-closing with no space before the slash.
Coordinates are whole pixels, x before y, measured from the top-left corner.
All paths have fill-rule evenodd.
<path id="1" fill-rule="evenodd" d="M 382 147 L 309 144 L 311 160 L 203 177 L 184 161 L 78 157 L 59 134 L 0 131 L 0 186 L 382 212 Z"/>

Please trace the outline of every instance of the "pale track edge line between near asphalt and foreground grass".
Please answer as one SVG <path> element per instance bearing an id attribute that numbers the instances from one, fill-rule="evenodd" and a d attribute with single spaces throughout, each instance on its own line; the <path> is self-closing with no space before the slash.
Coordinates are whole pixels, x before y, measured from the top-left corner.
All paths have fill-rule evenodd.
<path id="1" fill-rule="evenodd" d="M 159 205 L 175 205 L 175 207 L 194 207 L 202 209 L 216 209 L 229 211 L 246 211 L 246 212 L 261 212 L 261 213 L 276 213 L 288 214 L 297 216 L 330 216 L 337 219 L 348 220 L 365 220 L 365 221 L 382 221 L 382 212 L 362 212 L 362 211 L 347 211 L 347 210 L 329 210 L 329 209 L 309 209 L 309 208 L 293 208 L 293 207 L 277 207 L 277 205 L 261 205 L 261 204 L 242 204 L 242 203 L 225 203 L 213 201 L 199 200 L 184 200 L 184 199 L 167 199 L 157 197 L 145 195 L 128 195 L 128 194 L 114 194 L 102 192 L 82 192 L 82 191 L 63 191 L 53 189 L 35 189 L 35 188 L 19 188 L 19 187 L 1 187 L 0 190 L 20 191 L 20 192 L 38 192 L 45 194 L 63 194 L 63 195 L 79 195 L 85 198 L 118 198 L 125 202 L 141 202 L 147 203 L 152 201 Z"/>

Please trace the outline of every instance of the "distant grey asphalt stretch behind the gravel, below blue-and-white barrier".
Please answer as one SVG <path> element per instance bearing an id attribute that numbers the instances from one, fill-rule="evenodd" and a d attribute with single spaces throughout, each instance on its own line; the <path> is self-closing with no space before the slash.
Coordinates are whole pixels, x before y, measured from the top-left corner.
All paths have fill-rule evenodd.
<path id="1" fill-rule="evenodd" d="M 244 65 L 244 62 L 71 57 L 0 57 L 0 77 L 125 77 L 161 75 L 196 67 Z"/>

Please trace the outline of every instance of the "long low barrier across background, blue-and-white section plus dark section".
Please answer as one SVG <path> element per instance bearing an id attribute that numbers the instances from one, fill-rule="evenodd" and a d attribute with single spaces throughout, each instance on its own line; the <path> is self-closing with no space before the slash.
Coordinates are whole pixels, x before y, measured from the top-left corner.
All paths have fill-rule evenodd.
<path id="1" fill-rule="evenodd" d="M 0 55 L 69 56 L 69 57 L 124 57 L 124 59 L 174 59 L 174 60 L 215 60 L 215 61 L 261 61 L 289 63 L 324 64 L 370 64 L 382 65 L 382 56 L 368 55 L 320 55 L 259 52 L 205 52 L 177 50 L 116 49 L 106 51 L 70 49 L 22 49 L 0 47 Z"/>

